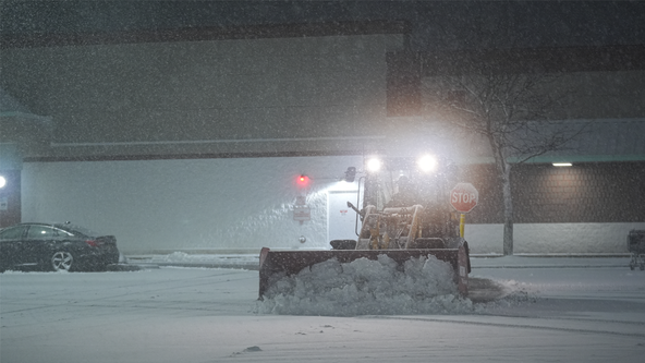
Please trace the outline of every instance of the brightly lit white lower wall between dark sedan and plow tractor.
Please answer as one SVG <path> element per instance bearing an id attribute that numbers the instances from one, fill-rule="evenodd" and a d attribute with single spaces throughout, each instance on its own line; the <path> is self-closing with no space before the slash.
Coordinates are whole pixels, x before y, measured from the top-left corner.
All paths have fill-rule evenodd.
<path id="1" fill-rule="evenodd" d="M 27 162 L 22 219 L 115 234 L 124 253 L 325 249 L 327 192 L 355 189 L 339 179 L 361 162 L 342 156 Z M 305 186 L 296 183 L 301 174 L 309 179 Z M 297 196 L 311 207 L 302 225 L 293 219 Z"/>

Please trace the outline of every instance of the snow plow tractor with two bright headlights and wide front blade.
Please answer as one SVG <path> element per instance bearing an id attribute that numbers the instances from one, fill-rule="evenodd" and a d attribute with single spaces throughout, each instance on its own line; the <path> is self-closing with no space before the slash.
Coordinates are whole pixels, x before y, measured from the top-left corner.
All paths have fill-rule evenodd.
<path id="1" fill-rule="evenodd" d="M 271 251 L 264 247 L 259 257 L 259 299 L 285 276 L 330 259 L 341 264 L 360 258 L 379 259 L 386 255 L 402 266 L 413 258 L 429 258 L 450 264 L 462 297 L 467 295 L 471 271 L 468 245 L 460 235 L 459 217 L 449 204 L 450 189 L 457 182 L 454 165 L 428 156 L 414 162 L 409 158 L 385 161 L 369 158 L 358 179 L 356 240 L 333 240 L 329 251 Z M 345 172 L 353 182 L 355 168 Z M 361 201 L 362 199 L 362 201 Z M 361 228 L 358 229 L 358 226 Z"/>

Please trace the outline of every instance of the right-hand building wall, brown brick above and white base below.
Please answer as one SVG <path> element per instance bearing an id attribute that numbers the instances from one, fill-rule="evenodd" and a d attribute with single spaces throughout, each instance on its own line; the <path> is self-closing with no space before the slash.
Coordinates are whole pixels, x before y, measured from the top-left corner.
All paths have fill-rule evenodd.
<path id="1" fill-rule="evenodd" d="M 645 162 L 581 162 L 513 167 L 515 253 L 621 253 L 631 229 L 645 228 Z M 502 253 L 501 191 L 492 165 L 462 168 L 479 192 L 466 216 L 474 253 Z"/>

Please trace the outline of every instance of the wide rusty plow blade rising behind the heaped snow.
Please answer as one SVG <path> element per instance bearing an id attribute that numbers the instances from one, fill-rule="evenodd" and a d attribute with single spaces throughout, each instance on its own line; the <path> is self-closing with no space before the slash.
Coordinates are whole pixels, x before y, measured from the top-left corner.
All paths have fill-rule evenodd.
<path id="1" fill-rule="evenodd" d="M 399 264 L 411 258 L 433 255 L 439 261 L 449 263 L 454 273 L 462 297 L 468 293 L 470 262 L 467 245 L 459 249 L 424 249 L 424 250 L 331 250 L 331 251 L 270 251 L 264 247 L 259 256 L 259 299 L 269 288 L 271 277 L 285 274 L 288 276 L 300 273 L 303 268 L 337 258 L 341 264 L 358 258 L 378 259 L 379 255 L 387 255 Z"/>

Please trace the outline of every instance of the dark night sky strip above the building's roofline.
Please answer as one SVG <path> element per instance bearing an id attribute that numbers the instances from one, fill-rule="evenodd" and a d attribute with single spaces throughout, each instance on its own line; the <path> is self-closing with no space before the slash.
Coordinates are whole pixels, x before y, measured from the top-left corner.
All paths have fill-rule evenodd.
<path id="1" fill-rule="evenodd" d="M 645 44 L 642 1 L 2 1 L 4 35 L 404 20 L 416 49 Z M 483 34 L 495 34 L 495 37 Z M 495 40 L 490 40 L 495 39 Z"/>

